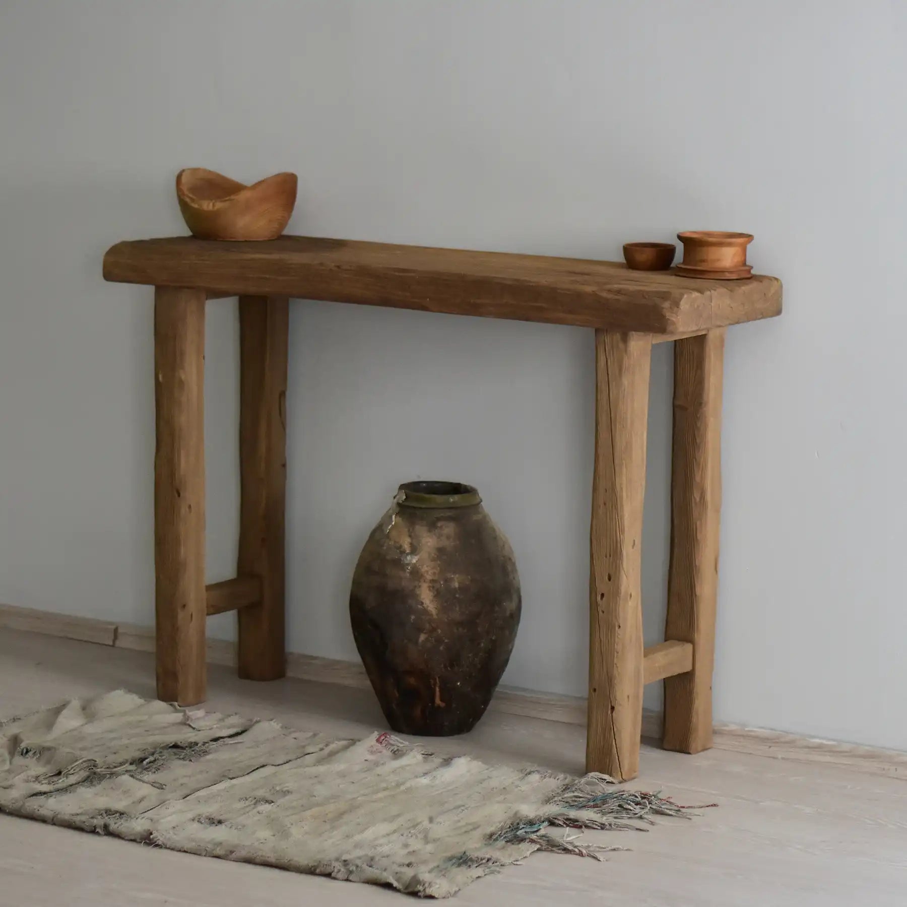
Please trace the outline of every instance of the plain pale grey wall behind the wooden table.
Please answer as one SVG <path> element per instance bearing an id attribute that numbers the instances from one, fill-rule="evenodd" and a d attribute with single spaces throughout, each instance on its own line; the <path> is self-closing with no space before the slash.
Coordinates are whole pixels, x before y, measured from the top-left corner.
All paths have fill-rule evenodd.
<path id="1" fill-rule="evenodd" d="M 0 600 L 152 619 L 151 292 L 172 180 L 299 174 L 297 233 L 619 258 L 756 234 L 785 316 L 727 337 L 717 717 L 907 748 L 907 5 L 10 2 L 0 12 Z M 210 580 L 237 522 L 235 307 L 211 304 Z M 581 694 L 589 332 L 297 302 L 289 647 L 355 658 L 346 592 L 398 482 L 475 483 L 522 571 L 506 680 Z M 644 565 L 666 574 L 670 362 Z M 229 616 L 214 622 L 229 634 Z"/>

